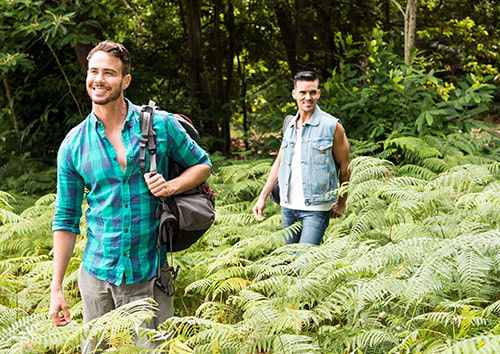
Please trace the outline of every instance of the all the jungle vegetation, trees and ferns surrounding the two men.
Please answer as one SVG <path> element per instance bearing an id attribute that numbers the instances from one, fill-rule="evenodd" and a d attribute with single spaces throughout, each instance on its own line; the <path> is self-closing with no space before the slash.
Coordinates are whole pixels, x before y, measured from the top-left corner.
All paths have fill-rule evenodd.
<path id="1" fill-rule="evenodd" d="M 500 348 L 500 5 L 493 0 L 0 2 L 0 353 L 496 353 Z M 410 18 L 414 45 L 406 52 Z M 411 27 L 411 26 L 410 26 Z M 411 31 L 410 31 L 411 32 Z M 90 110 L 85 56 L 132 52 L 136 104 L 190 116 L 211 153 L 217 220 L 174 255 L 175 317 L 154 303 L 82 324 L 48 318 L 55 156 Z M 279 206 L 251 214 L 315 69 L 351 143 L 345 215 L 285 245 Z M 298 225 L 292 227 L 299 227 Z M 82 230 L 85 220 L 82 219 Z"/>

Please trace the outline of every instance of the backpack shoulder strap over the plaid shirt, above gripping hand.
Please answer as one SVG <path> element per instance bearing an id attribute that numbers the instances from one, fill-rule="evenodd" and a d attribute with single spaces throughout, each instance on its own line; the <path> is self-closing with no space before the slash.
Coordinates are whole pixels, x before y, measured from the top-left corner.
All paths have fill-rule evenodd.
<path id="1" fill-rule="evenodd" d="M 153 115 L 155 114 L 156 103 L 149 101 L 147 105 L 141 107 L 139 121 L 141 125 L 141 147 L 139 155 L 139 168 L 141 173 L 146 169 L 146 144 L 149 151 L 150 162 L 149 172 L 156 172 L 156 133 L 153 128 Z"/>

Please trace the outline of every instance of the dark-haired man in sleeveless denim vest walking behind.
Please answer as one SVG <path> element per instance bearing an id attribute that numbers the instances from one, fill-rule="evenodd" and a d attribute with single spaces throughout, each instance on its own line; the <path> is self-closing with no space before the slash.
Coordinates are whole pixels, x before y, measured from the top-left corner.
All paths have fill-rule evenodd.
<path id="1" fill-rule="evenodd" d="M 349 180 L 349 143 L 339 120 L 318 107 L 320 95 L 315 72 L 295 75 L 298 112 L 284 126 L 278 156 L 253 208 L 257 219 L 265 217 L 267 197 L 279 180 L 283 228 L 302 223 L 287 243 L 319 245 L 330 217 L 345 210 L 347 195 L 338 197 L 336 191 Z"/>

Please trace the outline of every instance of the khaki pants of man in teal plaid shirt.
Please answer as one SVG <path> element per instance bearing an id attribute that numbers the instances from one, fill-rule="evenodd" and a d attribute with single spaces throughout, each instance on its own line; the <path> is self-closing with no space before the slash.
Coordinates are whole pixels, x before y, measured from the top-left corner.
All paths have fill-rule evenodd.
<path id="1" fill-rule="evenodd" d="M 144 327 L 157 328 L 159 324 L 165 322 L 173 315 L 173 296 L 167 296 L 155 286 L 154 279 L 138 284 L 121 284 L 120 286 L 116 286 L 96 279 L 83 267 L 80 267 L 78 286 L 82 295 L 83 321 L 85 323 L 101 317 L 105 313 L 122 305 L 145 298 L 154 299 L 159 305 L 159 310 L 150 324 L 144 323 Z M 158 344 L 148 342 L 144 338 L 137 340 L 137 345 L 142 348 L 152 349 Z M 94 348 L 92 341 L 84 340 L 82 343 L 82 353 L 99 353 L 106 348 L 107 346 L 103 345 L 100 345 L 99 348 Z"/>

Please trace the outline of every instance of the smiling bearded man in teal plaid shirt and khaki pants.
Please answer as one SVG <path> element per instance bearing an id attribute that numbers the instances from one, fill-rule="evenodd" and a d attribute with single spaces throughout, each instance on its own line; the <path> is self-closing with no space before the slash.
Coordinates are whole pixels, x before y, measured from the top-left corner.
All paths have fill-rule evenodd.
<path id="1" fill-rule="evenodd" d="M 156 249 L 157 197 L 182 193 L 206 180 L 210 159 L 172 114 L 157 110 L 158 173 L 140 174 L 140 107 L 124 97 L 132 80 L 130 53 L 121 44 L 104 41 L 87 59 L 92 112 L 67 134 L 57 156 L 49 314 L 57 326 L 71 321 L 63 279 L 80 234 L 85 198 L 87 243 L 78 274 L 84 322 L 126 303 L 153 298 L 159 304 L 152 323 L 157 326 L 173 311 L 172 297 L 155 285 L 160 257 Z M 186 168 L 171 180 L 169 158 Z M 97 349 L 91 341 L 86 343 L 83 353 Z"/>

